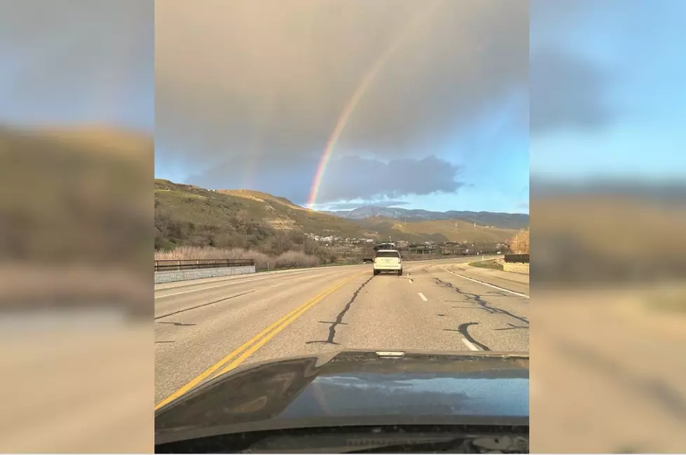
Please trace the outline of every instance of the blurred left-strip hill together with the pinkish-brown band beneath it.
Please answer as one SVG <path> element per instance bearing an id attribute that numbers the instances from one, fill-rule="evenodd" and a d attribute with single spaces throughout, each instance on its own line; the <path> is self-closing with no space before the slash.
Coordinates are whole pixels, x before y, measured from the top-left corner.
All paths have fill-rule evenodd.
<path id="1" fill-rule="evenodd" d="M 153 154 L 137 131 L 0 125 L 4 309 L 151 318 Z"/>

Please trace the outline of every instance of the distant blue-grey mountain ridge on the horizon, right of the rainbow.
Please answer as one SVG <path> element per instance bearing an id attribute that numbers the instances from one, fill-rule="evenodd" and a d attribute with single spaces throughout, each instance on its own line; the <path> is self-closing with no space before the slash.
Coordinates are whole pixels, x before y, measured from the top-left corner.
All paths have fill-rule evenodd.
<path id="1" fill-rule="evenodd" d="M 524 213 L 467 212 L 458 210 L 431 212 L 430 210 L 374 207 L 372 205 L 365 205 L 364 207 L 353 210 L 336 210 L 334 212 L 326 213 L 348 219 L 386 217 L 403 222 L 405 220 L 408 222 L 416 222 L 452 219 L 476 223 L 479 226 L 494 226 L 504 229 L 523 229 L 529 225 L 529 215 Z"/>

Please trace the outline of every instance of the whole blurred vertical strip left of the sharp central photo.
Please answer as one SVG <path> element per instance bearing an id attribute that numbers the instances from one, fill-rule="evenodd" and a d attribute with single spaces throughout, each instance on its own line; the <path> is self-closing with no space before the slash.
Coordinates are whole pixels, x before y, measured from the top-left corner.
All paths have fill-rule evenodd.
<path id="1" fill-rule="evenodd" d="M 1 452 L 153 450 L 153 32 L 0 2 Z"/>

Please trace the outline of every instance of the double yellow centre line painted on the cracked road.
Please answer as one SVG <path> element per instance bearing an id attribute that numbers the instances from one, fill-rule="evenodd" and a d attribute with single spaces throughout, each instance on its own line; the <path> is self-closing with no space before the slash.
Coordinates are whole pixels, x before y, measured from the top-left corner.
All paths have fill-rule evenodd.
<path id="1" fill-rule="evenodd" d="M 315 306 L 317 302 L 324 299 L 324 297 L 327 297 L 327 295 L 331 294 L 331 292 L 334 292 L 339 287 L 345 285 L 345 283 L 348 283 L 352 281 L 354 278 L 357 278 L 359 275 L 360 274 L 358 273 L 354 276 L 351 276 L 350 278 L 346 278 L 345 280 L 341 281 L 340 283 L 332 287 L 329 287 L 329 289 L 325 290 L 321 294 L 317 294 L 317 296 L 315 296 L 313 299 L 306 301 L 304 304 L 294 309 L 293 311 L 285 315 L 283 318 L 280 318 L 272 325 L 267 327 L 265 330 L 259 332 L 259 334 L 256 334 L 254 337 L 246 341 L 245 344 L 240 346 L 240 348 L 236 349 L 235 351 L 227 355 L 225 358 L 219 360 L 219 362 L 212 365 L 212 367 L 210 367 L 209 369 L 206 369 L 204 372 L 200 373 L 198 376 L 195 377 L 195 379 L 187 383 L 185 386 L 179 388 L 179 390 L 172 393 L 172 395 L 169 395 L 167 398 L 160 401 L 155 406 L 155 410 L 160 409 L 160 407 L 163 407 L 168 403 L 176 400 L 181 395 L 188 393 L 188 391 L 190 391 L 195 386 L 198 386 L 198 384 L 205 381 L 205 379 L 212 376 L 212 374 L 214 374 L 214 372 L 217 372 L 217 370 L 219 370 L 221 367 L 224 368 L 222 368 L 217 375 L 224 374 L 229 370 L 238 367 L 238 365 L 245 361 L 245 359 L 249 358 L 250 355 L 252 355 L 259 348 L 264 346 L 270 339 L 276 337 L 276 335 L 282 330 L 284 330 L 284 328 L 287 327 L 291 322 L 293 322 L 294 320 L 299 318 L 300 315 L 302 315 L 310 308 Z M 227 363 L 228 365 L 226 365 Z"/>

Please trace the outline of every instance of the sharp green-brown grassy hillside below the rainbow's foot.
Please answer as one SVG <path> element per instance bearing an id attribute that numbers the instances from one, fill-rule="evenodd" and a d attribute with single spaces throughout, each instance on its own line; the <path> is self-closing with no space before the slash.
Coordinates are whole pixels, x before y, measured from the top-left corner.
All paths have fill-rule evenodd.
<path id="1" fill-rule="evenodd" d="M 280 254 L 303 245 L 306 233 L 373 240 L 472 240 L 497 242 L 512 229 L 483 228 L 461 220 L 400 222 L 390 217 L 337 217 L 252 190 L 209 190 L 168 180 L 155 181 L 156 248 L 177 245 L 256 248 Z"/>

